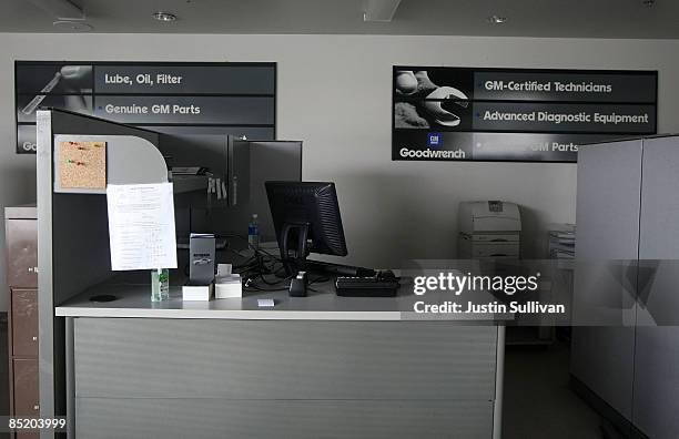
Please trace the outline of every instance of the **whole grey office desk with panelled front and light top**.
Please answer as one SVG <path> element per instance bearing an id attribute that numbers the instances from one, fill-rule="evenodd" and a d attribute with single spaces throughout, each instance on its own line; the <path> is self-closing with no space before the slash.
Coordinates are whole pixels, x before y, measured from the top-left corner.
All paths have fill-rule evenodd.
<path id="1" fill-rule="evenodd" d="M 503 326 L 314 288 L 153 304 L 101 285 L 57 307 L 75 437 L 499 438 Z"/>

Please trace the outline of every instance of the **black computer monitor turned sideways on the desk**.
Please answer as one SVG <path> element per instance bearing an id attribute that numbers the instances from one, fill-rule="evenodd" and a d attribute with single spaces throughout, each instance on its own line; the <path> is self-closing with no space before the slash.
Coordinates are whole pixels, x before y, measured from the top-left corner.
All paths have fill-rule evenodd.
<path id="1" fill-rule="evenodd" d="M 304 267 L 310 253 L 346 256 L 334 183 L 266 182 L 268 206 L 288 272 Z"/>

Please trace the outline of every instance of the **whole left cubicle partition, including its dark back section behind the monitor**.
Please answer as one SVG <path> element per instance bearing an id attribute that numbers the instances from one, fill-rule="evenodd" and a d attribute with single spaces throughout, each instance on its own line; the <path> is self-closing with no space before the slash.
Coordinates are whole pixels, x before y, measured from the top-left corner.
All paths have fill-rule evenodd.
<path id="1" fill-rule="evenodd" d="M 40 400 L 41 415 L 49 417 L 65 414 L 69 394 L 68 328 L 64 319 L 54 318 L 54 307 L 113 275 L 105 184 L 162 183 L 169 181 L 171 166 L 205 169 L 172 178 L 181 237 L 191 232 L 246 237 L 247 222 L 256 213 L 261 235 L 273 238 L 264 181 L 302 178 L 302 142 L 161 134 L 59 110 L 39 111 L 37 130 Z M 89 166 L 60 156 L 61 144 L 68 142 L 105 145 L 103 186 L 64 187 L 62 172 L 87 173 Z M 206 194 L 211 180 L 223 184 L 221 196 Z M 192 220 L 181 217 L 186 208 Z M 246 238 L 241 241 L 247 245 Z M 237 248 L 239 242 L 232 246 Z"/>

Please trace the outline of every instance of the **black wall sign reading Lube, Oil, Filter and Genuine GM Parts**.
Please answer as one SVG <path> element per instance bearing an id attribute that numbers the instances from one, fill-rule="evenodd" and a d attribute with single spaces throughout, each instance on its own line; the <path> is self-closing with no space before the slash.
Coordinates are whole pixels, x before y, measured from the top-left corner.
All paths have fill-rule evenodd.
<path id="1" fill-rule="evenodd" d="M 275 139 L 275 63 L 17 61 L 17 153 L 36 111 L 70 110 L 172 134 Z"/>

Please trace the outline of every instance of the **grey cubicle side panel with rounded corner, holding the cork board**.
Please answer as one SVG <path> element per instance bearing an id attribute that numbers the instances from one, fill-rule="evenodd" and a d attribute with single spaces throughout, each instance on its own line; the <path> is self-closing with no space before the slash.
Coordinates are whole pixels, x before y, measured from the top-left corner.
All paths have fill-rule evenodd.
<path id="1" fill-rule="evenodd" d="M 57 110 L 39 111 L 37 122 L 40 412 L 51 417 L 67 410 L 64 324 L 54 306 L 111 275 L 105 196 L 54 191 L 54 144 L 105 140 L 114 183 L 166 182 L 168 173 L 156 133 Z"/>

